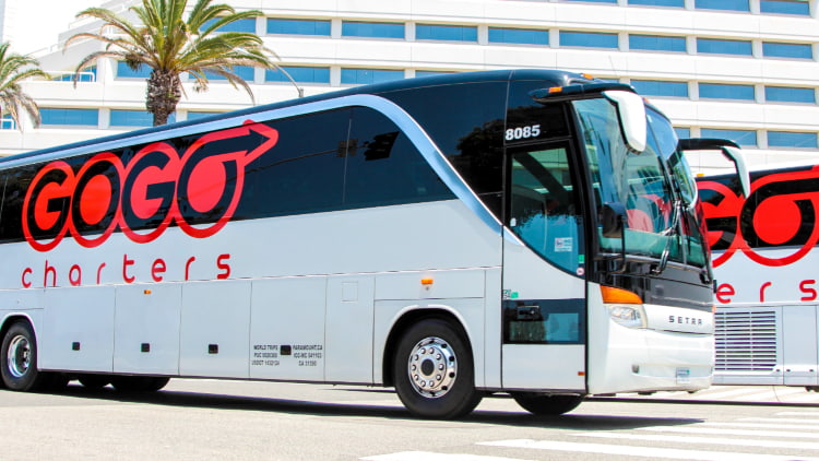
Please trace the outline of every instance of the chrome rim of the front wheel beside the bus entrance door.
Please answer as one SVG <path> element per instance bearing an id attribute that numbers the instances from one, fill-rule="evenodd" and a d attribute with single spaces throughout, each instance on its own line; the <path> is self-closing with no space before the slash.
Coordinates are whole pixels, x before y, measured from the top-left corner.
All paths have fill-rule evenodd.
<path id="1" fill-rule="evenodd" d="M 416 392 L 431 399 L 443 397 L 458 378 L 455 352 L 440 338 L 425 338 L 410 353 L 407 373 Z"/>

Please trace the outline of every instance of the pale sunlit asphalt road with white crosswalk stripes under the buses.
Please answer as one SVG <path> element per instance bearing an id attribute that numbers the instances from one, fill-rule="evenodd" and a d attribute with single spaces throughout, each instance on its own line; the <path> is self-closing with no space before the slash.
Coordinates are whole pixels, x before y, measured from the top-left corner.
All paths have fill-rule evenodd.
<path id="1" fill-rule="evenodd" d="M 819 460 L 819 406 L 603 399 L 534 417 L 485 399 L 411 417 L 380 389 L 171 380 L 151 395 L 0 390 L 0 460 Z"/>

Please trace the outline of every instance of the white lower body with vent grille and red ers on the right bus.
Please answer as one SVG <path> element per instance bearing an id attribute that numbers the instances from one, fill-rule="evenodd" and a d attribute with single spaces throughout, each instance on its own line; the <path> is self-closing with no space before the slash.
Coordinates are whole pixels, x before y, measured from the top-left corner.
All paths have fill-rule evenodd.
<path id="1" fill-rule="evenodd" d="M 776 260 L 794 249 L 753 251 Z M 763 265 L 737 251 L 714 269 L 722 319 L 714 382 L 819 386 L 817 267 L 819 250 L 812 248 L 785 265 Z"/>

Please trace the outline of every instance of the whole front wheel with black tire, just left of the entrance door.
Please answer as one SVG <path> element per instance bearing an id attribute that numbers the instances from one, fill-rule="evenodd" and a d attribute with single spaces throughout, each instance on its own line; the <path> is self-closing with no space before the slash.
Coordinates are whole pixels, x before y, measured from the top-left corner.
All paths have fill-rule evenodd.
<path id="1" fill-rule="evenodd" d="M 437 373 L 441 368 L 446 373 Z M 442 319 L 422 320 L 404 332 L 395 348 L 392 377 L 401 402 L 420 417 L 461 417 L 483 397 L 475 389 L 465 335 Z"/>

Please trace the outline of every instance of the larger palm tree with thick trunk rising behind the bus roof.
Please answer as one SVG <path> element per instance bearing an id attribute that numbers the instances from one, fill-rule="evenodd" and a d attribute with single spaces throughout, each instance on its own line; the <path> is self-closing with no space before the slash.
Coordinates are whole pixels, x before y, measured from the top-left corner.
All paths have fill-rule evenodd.
<path id="1" fill-rule="evenodd" d="M 154 116 L 154 126 L 165 125 L 176 111 L 182 96 L 181 75 L 194 79 L 194 91 L 207 90 L 207 73 L 226 79 L 234 87 L 241 86 L 253 99 L 248 83 L 234 72 L 236 66 L 272 69 L 275 66 L 262 39 L 246 32 L 217 32 L 240 20 L 254 19 L 261 11 L 236 12 L 223 3 L 198 0 L 188 13 L 188 0 L 142 0 L 130 8 L 140 24 L 104 8 L 90 8 L 78 17 L 103 21 L 98 33 L 79 33 L 68 39 L 93 38 L 106 44 L 102 51 L 93 52 L 76 67 L 76 74 L 102 58 L 124 61 L 132 70 L 142 66 L 152 69 L 147 79 L 145 107 Z M 110 33 L 107 33 L 110 32 Z M 206 73 L 207 72 L 207 73 Z"/>

